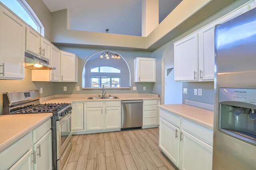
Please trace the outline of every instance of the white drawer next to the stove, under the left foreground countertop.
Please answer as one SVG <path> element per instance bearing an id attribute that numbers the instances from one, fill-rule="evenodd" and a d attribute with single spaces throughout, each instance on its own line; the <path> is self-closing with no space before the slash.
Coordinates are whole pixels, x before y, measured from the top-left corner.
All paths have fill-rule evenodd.
<path id="1" fill-rule="evenodd" d="M 42 123 L 39 127 L 33 130 L 33 143 L 36 143 L 42 138 L 51 128 L 51 119 L 48 119 Z"/>

